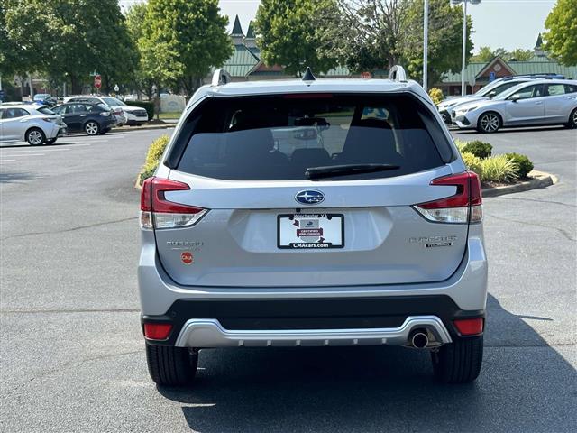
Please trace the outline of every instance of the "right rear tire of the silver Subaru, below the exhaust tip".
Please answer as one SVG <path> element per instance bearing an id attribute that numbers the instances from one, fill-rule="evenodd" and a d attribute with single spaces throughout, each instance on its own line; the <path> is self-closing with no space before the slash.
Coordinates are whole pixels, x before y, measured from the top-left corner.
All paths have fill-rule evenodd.
<path id="1" fill-rule="evenodd" d="M 455 337 L 431 353 L 435 378 L 442 383 L 469 383 L 481 372 L 483 336 Z"/>

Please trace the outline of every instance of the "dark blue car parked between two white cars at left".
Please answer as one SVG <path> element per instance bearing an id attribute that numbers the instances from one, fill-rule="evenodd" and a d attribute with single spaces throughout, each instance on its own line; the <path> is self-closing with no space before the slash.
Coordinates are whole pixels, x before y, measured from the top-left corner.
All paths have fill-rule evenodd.
<path id="1" fill-rule="evenodd" d="M 101 103 L 69 103 L 55 106 L 52 110 L 64 118 L 71 132 L 104 135 L 117 124 L 114 111 Z"/>

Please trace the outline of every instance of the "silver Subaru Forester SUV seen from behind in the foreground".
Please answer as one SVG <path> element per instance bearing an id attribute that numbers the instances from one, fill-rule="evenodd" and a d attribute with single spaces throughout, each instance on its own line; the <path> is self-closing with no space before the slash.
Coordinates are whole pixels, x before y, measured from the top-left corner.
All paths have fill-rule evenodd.
<path id="1" fill-rule="evenodd" d="M 190 382 L 204 348 L 404 345 L 441 382 L 473 381 L 481 186 L 426 92 L 401 68 L 226 77 L 198 89 L 142 186 L 152 380 Z"/>

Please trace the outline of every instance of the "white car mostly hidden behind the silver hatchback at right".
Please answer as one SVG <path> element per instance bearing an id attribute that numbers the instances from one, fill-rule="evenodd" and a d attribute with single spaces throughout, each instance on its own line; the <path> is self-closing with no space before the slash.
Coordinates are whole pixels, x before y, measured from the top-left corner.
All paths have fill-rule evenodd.
<path id="1" fill-rule="evenodd" d="M 439 114 L 443 117 L 445 124 L 453 124 L 453 119 L 450 115 L 450 110 L 455 110 L 458 106 L 463 104 L 467 104 L 472 101 L 477 100 L 484 100 L 490 99 L 492 97 L 496 97 L 503 93 L 504 91 L 517 86 L 520 83 L 526 83 L 527 81 L 531 81 L 532 79 L 543 79 L 543 78 L 561 78 L 564 77 L 562 75 L 557 74 L 532 74 L 532 75 L 517 75 L 513 77 L 504 77 L 498 78 L 495 81 L 492 81 L 484 88 L 481 88 L 477 92 L 472 95 L 465 95 L 464 97 L 447 97 L 441 103 L 437 105 L 439 110 Z"/>

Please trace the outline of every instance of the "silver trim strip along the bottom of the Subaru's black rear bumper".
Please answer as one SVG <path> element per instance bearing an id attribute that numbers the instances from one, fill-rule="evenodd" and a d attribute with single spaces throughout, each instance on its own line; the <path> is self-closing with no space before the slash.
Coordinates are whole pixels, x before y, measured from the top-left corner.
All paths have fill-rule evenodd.
<path id="1" fill-rule="evenodd" d="M 177 338 L 178 347 L 267 347 L 319 345 L 407 345 L 413 329 L 426 328 L 438 344 L 451 336 L 436 316 L 411 316 L 400 327 L 360 329 L 225 329 L 218 320 L 192 318 Z"/>

